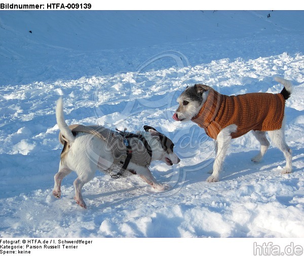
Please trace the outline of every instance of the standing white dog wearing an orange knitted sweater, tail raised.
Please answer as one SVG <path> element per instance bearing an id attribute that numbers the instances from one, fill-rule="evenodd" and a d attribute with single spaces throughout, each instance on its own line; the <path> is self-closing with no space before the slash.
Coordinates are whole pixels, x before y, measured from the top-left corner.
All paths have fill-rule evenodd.
<path id="1" fill-rule="evenodd" d="M 268 132 L 271 141 L 286 158 L 282 174 L 291 173 L 291 149 L 285 142 L 285 101 L 291 95 L 291 82 L 275 77 L 284 85 L 279 94 L 249 93 L 237 96 L 221 95 L 204 84 L 188 87 L 178 97 L 179 106 L 173 115 L 176 121 L 192 120 L 205 129 L 206 134 L 215 140 L 216 156 L 212 175 L 208 182 L 219 180 L 219 173 L 231 139 L 238 138 L 249 131 L 260 142 L 258 155 L 253 162 L 262 159 L 270 143 L 266 138 Z"/>

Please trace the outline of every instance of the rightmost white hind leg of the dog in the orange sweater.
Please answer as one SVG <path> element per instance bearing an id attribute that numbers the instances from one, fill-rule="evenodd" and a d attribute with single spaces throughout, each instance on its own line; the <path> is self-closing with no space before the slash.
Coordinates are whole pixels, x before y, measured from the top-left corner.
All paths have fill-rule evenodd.
<path id="1" fill-rule="evenodd" d="M 285 142 L 284 128 L 281 128 L 280 130 L 270 131 L 268 134 L 271 141 L 278 149 L 283 152 L 286 159 L 286 165 L 281 174 L 290 174 L 292 170 L 292 151 Z"/>

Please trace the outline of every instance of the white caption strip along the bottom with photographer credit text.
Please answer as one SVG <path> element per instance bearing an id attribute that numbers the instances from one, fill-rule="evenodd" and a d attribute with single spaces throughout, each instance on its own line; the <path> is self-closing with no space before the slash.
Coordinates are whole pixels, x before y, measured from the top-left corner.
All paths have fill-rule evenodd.
<path id="1" fill-rule="evenodd" d="M 207 221 L 207 220 L 206 220 Z M 60 255 L 303 255 L 302 238 L 0 238 L 19 241 L 19 245 L 58 245 L 64 241 L 91 241 L 77 243 L 74 248 L 26 249 L 32 256 Z M 29 241 L 29 242 L 28 242 Z M 3 242 L 1 243 L 3 244 Z M 15 244 L 15 243 L 14 243 Z M 279 251 L 278 251 L 279 249 Z M 15 250 L 15 255 L 18 250 Z M 278 254 L 279 253 L 279 254 Z M 4 254 L 6 255 L 6 254 Z M 12 254 L 10 254 L 12 255 Z"/>

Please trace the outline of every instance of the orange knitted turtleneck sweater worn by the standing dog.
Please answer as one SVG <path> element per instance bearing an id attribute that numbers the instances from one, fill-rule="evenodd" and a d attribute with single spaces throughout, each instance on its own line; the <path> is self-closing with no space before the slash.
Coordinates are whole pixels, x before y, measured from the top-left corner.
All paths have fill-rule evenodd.
<path id="1" fill-rule="evenodd" d="M 249 131 L 274 131 L 281 129 L 285 99 L 282 94 L 248 93 L 237 96 L 219 94 L 211 87 L 200 112 L 192 121 L 216 139 L 219 132 L 231 124 L 237 125 L 233 139 Z"/>

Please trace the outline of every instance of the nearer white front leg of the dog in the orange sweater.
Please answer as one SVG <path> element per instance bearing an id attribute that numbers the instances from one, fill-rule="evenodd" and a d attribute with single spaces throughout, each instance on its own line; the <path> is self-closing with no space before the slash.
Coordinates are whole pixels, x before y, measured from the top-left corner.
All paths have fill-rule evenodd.
<path id="1" fill-rule="evenodd" d="M 213 164 L 213 173 L 207 179 L 207 182 L 217 182 L 219 173 L 226 156 L 227 149 L 231 141 L 231 134 L 237 130 L 237 125 L 231 124 L 219 132 L 216 138 L 217 152 Z"/>

